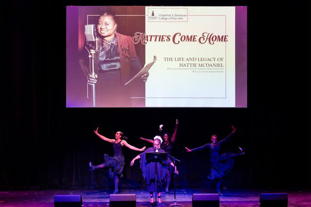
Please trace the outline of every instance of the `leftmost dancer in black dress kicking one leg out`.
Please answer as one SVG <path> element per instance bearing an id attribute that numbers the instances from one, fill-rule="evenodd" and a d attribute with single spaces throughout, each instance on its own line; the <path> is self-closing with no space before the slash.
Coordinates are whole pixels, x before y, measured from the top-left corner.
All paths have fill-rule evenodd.
<path id="1" fill-rule="evenodd" d="M 122 154 L 122 146 L 125 145 L 126 147 L 136 150 L 136 151 L 144 151 L 146 149 L 146 146 L 142 147 L 141 149 L 138 149 L 135 146 L 132 146 L 131 144 L 127 143 L 125 140 L 127 137 L 123 136 L 123 133 L 121 131 L 117 131 L 115 135 L 115 139 L 108 139 L 105 136 L 98 133 L 98 127 L 96 131 L 94 130 L 95 134 L 99 136 L 102 140 L 107 141 L 109 143 L 113 143 L 113 157 L 110 157 L 106 154 L 104 154 L 104 163 L 100 165 L 92 165 L 91 162 L 89 162 L 90 170 L 95 170 L 99 168 L 109 167 L 109 177 L 114 178 L 115 182 L 115 191 L 113 194 L 119 193 L 118 186 L 119 186 L 119 177 L 123 177 L 122 170 L 124 167 L 124 156 Z"/>

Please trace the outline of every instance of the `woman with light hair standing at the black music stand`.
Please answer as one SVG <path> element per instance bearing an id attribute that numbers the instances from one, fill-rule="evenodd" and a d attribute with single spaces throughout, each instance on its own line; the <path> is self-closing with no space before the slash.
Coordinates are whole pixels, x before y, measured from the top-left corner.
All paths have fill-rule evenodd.
<path id="1" fill-rule="evenodd" d="M 174 167 L 175 173 L 178 174 L 176 166 L 174 166 L 171 159 L 166 161 L 158 161 L 155 166 L 155 162 L 147 162 L 146 152 L 165 152 L 160 148 L 161 141 L 155 139 L 153 142 L 153 147 L 149 147 L 143 153 L 139 154 L 136 158 L 131 161 L 131 166 L 133 166 L 136 159 L 140 159 L 140 169 L 142 171 L 143 177 L 147 182 L 147 191 L 150 193 L 150 204 L 154 203 L 153 192 L 155 191 L 155 170 L 156 170 L 156 192 L 158 196 L 158 202 L 162 203 L 161 192 L 162 192 L 162 181 L 168 170 L 168 165 Z"/>

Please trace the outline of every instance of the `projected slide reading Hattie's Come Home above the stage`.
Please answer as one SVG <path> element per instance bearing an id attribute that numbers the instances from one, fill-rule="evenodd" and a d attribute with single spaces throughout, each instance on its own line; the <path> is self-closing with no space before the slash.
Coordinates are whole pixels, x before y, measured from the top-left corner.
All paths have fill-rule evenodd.
<path id="1" fill-rule="evenodd" d="M 67 6 L 66 107 L 247 107 L 247 7 Z"/>

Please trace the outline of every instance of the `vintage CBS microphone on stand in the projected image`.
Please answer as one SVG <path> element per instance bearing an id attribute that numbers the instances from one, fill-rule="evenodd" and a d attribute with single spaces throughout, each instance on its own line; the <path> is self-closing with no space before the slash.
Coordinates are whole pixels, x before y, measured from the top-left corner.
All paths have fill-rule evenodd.
<path id="1" fill-rule="evenodd" d="M 94 57 L 95 52 L 98 50 L 97 44 L 97 31 L 95 24 L 87 24 L 85 25 L 85 35 L 86 35 L 86 49 L 88 51 L 88 58 L 89 58 L 89 72 L 90 74 L 95 77 L 94 72 Z M 87 85 L 87 98 L 88 98 L 88 83 Z M 95 107 L 95 84 L 92 84 L 92 94 L 93 94 L 93 107 Z"/>

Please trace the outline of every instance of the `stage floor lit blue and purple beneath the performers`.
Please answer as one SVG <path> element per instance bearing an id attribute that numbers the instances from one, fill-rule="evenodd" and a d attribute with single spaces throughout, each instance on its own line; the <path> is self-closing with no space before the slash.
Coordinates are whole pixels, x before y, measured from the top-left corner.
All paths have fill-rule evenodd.
<path id="1" fill-rule="evenodd" d="M 53 207 L 55 194 L 79 194 L 83 207 L 107 207 L 109 193 L 113 190 L 44 190 L 44 191 L 0 191 L 0 207 Z M 230 189 L 220 195 L 220 206 L 224 207 L 259 207 L 260 193 L 287 192 L 288 206 L 311 207 L 311 191 L 281 191 Z M 212 193 L 209 189 L 177 189 L 170 194 L 162 193 L 163 203 L 157 206 L 173 206 L 174 202 L 184 207 L 192 207 L 193 193 Z M 138 207 L 149 207 L 150 198 L 146 189 L 121 189 L 120 194 L 136 194 Z M 176 199 L 174 200 L 174 197 Z"/>

